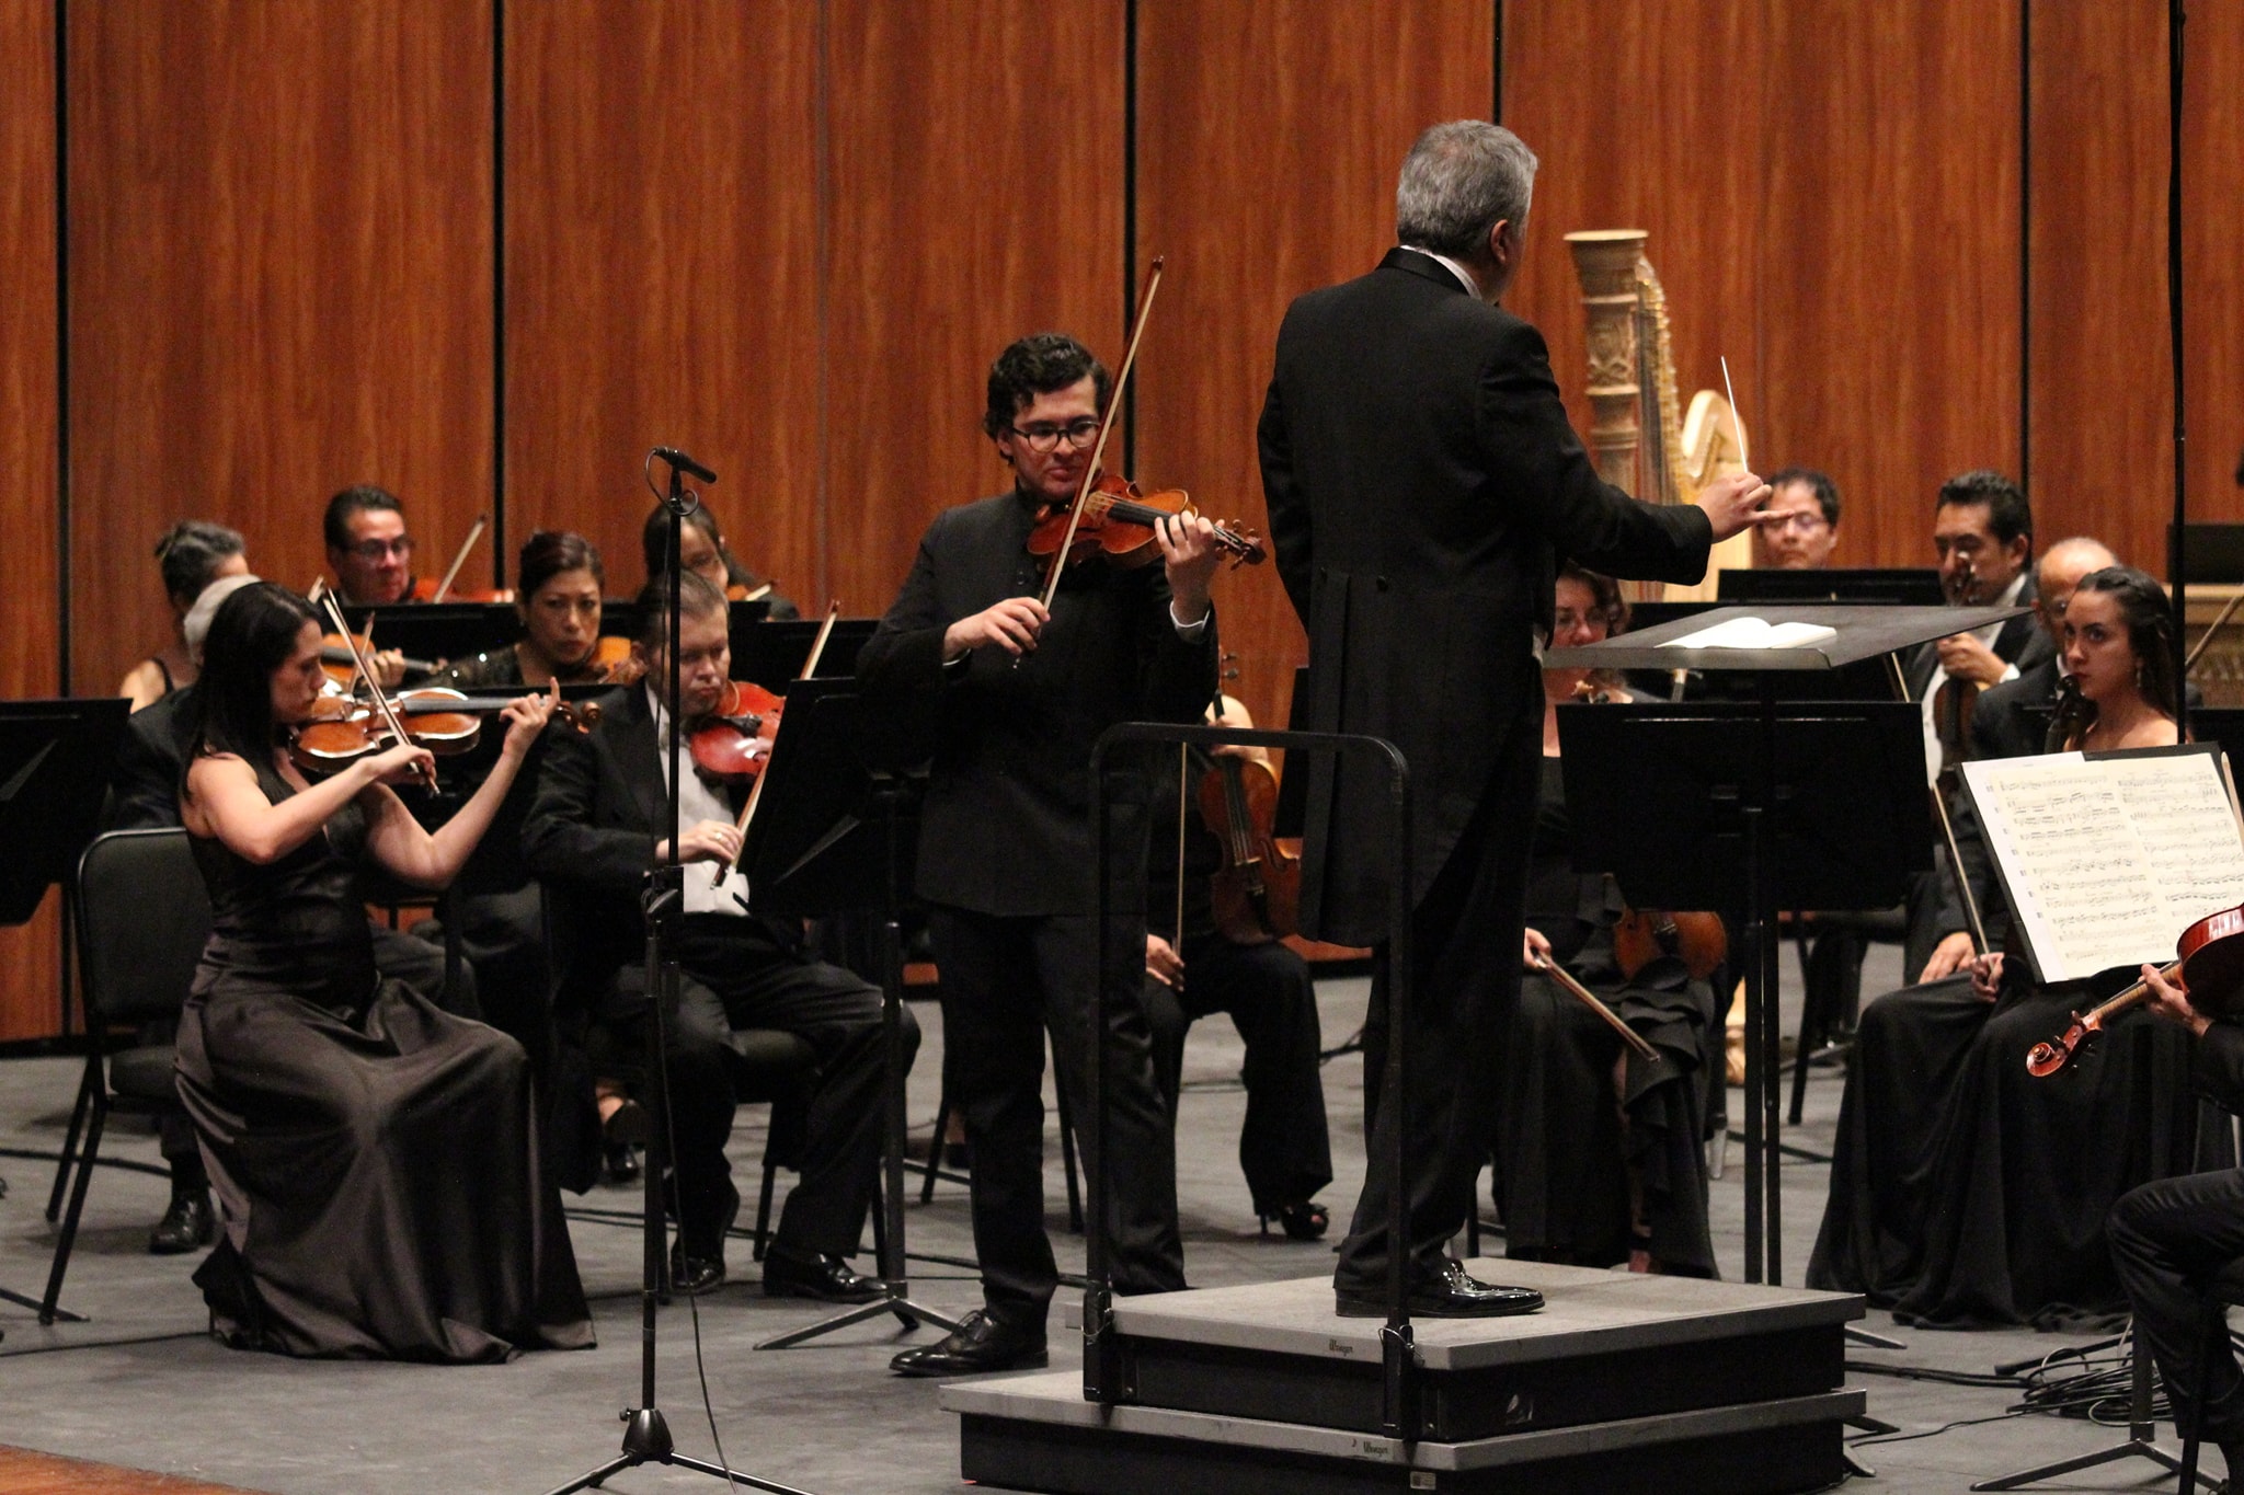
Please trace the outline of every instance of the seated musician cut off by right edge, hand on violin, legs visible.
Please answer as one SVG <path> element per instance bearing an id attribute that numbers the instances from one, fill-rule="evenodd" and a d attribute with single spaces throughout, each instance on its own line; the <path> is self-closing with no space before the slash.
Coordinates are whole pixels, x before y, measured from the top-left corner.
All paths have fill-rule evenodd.
<path id="1" fill-rule="evenodd" d="M 2192 1078 L 2219 1107 L 2244 1114 L 2244 1024 L 2190 1006 L 2188 988 L 2143 966 L 2152 1015 L 2195 1038 Z M 2224 1304 L 2206 1284 L 2244 1257 L 2244 1170 L 2192 1172 L 2143 1183 L 2112 1206 L 2112 1266 L 2127 1291 L 2134 1334 L 2159 1363 L 2174 1426 L 2217 1443 L 2228 1484 L 2244 1475 L 2244 1372 Z M 2204 1361 L 2199 1361 L 2204 1356 Z M 2208 1394 L 2197 1396 L 2199 1363 Z"/>

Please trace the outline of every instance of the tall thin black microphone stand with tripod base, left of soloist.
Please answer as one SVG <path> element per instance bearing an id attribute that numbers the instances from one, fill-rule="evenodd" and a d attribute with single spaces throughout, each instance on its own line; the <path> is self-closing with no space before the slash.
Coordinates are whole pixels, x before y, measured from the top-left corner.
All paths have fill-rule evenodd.
<path id="1" fill-rule="evenodd" d="M 669 646 L 664 648 L 664 663 L 669 668 L 669 733 L 664 742 L 664 753 L 669 753 L 671 764 L 671 796 L 669 796 L 669 818 L 671 838 L 669 856 L 655 856 L 653 865 L 646 870 L 646 892 L 642 894 L 642 908 L 646 912 L 646 995 L 653 1009 L 651 1022 L 651 1053 L 646 1074 L 653 1083 L 655 1121 L 660 1130 L 655 1136 L 662 1141 L 662 1157 L 649 1157 L 644 1170 L 644 1262 L 640 1275 L 640 1405 L 624 1412 L 624 1450 L 592 1468 L 568 1484 L 554 1486 L 550 1495 L 572 1495 L 572 1491 L 583 1491 L 588 1486 L 604 1484 L 608 1475 L 622 1473 L 626 1468 L 637 1468 L 640 1464 L 666 1464 L 671 1468 L 691 1468 L 702 1475 L 716 1475 L 727 1484 L 745 1484 L 758 1491 L 770 1491 L 772 1495 L 806 1495 L 788 1484 L 772 1484 L 770 1479 L 758 1479 L 754 1475 L 736 1473 L 723 1464 L 709 1464 L 705 1459 L 693 1459 L 678 1452 L 671 1441 L 671 1426 L 662 1417 L 662 1408 L 655 1403 L 655 1307 L 662 1302 L 666 1289 L 666 1231 L 662 1224 L 662 1172 L 678 1157 L 675 1136 L 671 1132 L 671 1080 L 669 1080 L 669 1033 L 666 1024 L 678 1009 L 678 964 L 669 957 L 666 937 L 671 921 L 684 910 L 684 867 L 678 861 L 678 834 L 680 834 L 680 809 L 678 809 L 678 769 L 680 769 L 680 722 L 678 722 L 678 634 L 680 634 L 680 598 L 678 598 L 678 536 L 684 527 L 684 518 L 693 513 L 700 502 L 684 484 L 684 473 L 691 471 L 702 482 L 716 482 L 716 473 L 698 466 L 684 453 L 669 448 L 655 448 L 649 453 L 649 466 L 655 459 L 664 459 L 671 468 L 671 489 L 662 495 L 662 504 L 671 513 L 669 538 L 662 545 L 662 574 L 669 581 L 671 592 L 671 616 L 669 616 Z M 714 1428 L 711 1428 L 714 1432 Z M 723 1457 L 723 1446 L 718 1446 L 718 1457 Z"/>

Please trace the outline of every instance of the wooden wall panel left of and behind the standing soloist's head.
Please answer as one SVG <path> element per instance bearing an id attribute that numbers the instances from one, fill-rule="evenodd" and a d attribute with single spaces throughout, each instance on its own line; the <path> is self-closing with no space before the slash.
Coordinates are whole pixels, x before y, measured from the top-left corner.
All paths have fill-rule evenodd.
<path id="1" fill-rule="evenodd" d="M 981 433 L 999 350 L 1122 356 L 1122 16 L 830 0 L 828 589 L 853 614 L 940 509 L 1010 486 Z"/>

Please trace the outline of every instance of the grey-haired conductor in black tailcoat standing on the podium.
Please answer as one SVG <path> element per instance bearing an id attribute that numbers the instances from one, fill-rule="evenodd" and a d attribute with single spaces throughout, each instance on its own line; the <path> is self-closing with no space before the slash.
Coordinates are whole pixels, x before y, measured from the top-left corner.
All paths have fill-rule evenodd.
<path id="1" fill-rule="evenodd" d="M 1656 507 L 1598 480 L 1566 424 L 1542 334 L 1497 303 L 1526 247 L 1535 152 L 1481 121 L 1434 126 L 1403 161 L 1400 247 L 1293 303 L 1259 442 L 1270 538 L 1308 630 L 1315 731 L 1376 733 L 1411 769 L 1409 1114 L 1385 1065 L 1391 874 L 1378 773 L 1310 776 L 1304 932 L 1373 944 L 1371 1166 L 1333 1273 L 1337 1311 L 1382 1316 L 1389 1201 L 1407 1190 L 1414 1316 L 1533 1313 L 1447 1242 L 1499 1092 L 1519 1000 L 1526 852 L 1542 751 L 1539 654 L 1562 556 L 1690 583 L 1708 547 L 1773 516 L 1746 473 Z M 1394 1127 L 1409 1177 L 1394 1177 Z"/>

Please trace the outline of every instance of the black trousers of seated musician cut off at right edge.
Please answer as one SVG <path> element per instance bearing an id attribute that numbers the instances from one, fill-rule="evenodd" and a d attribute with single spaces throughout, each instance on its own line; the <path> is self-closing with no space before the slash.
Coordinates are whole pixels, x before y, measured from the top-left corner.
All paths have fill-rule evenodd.
<path id="1" fill-rule="evenodd" d="M 2244 1257 L 2244 1170 L 2192 1172 L 2118 1197 L 2107 1222 L 2112 1264 L 2127 1289 L 2139 1343 L 2150 1347 L 2174 1423 L 2224 1448 L 2244 1441 L 2244 1372 L 2206 1282 Z M 2213 1338 L 2199 1408 L 2197 1356 Z"/>

